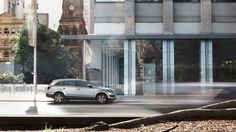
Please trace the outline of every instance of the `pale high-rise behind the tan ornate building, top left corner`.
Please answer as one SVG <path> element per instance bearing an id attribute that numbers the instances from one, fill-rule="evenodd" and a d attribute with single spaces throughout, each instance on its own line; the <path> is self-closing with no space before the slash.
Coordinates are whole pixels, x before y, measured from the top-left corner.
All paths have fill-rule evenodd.
<path id="1" fill-rule="evenodd" d="M 24 18 L 24 0 L 5 0 L 4 1 L 4 12 L 9 12 L 12 15 L 15 15 L 17 19 Z"/>

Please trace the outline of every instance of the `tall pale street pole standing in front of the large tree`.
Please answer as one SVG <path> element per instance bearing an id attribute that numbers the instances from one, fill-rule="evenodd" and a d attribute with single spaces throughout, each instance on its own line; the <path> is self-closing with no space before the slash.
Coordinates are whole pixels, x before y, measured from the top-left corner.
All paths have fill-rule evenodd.
<path id="1" fill-rule="evenodd" d="M 34 102 L 36 102 L 37 95 L 37 0 L 32 0 L 32 45 L 34 46 L 34 77 L 33 77 L 33 86 L 34 86 Z"/>

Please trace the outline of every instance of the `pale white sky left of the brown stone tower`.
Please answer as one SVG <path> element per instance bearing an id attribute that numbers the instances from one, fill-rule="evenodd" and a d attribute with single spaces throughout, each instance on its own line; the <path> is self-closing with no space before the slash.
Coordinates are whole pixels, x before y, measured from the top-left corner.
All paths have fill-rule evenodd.
<path id="1" fill-rule="evenodd" d="M 4 0 L 0 0 L 0 14 L 4 12 Z M 62 13 L 62 0 L 38 0 L 38 13 L 49 13 L 49 27 L 57 30 Z"/>

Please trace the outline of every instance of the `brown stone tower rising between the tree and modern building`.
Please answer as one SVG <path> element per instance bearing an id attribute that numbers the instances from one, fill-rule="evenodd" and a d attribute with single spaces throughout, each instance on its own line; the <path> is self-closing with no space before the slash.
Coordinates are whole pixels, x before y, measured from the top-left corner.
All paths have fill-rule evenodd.
<path id="1" fill-rule="evenodd" d="M 87 34 L 83 18 L 83 0 L 63 0 L 62 16 L 58 32 L 61 35 Z M 83 41 L 63 40 L 65 46 L 75 57 L 72 68 L 78 78 L 83 77 Z"/>

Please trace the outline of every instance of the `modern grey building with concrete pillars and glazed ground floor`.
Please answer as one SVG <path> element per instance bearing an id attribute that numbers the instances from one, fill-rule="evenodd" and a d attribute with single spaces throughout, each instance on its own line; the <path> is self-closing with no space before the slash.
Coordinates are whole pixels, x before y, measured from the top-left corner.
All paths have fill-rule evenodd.
<path id="1" fill-rule="evenodd" d="M 236 82 L 235 0 L 85 0 L 85 14 L 88 35 L 74 39 L 90 40 L 86 69 L 103 86 L 199 95 Z"/>

